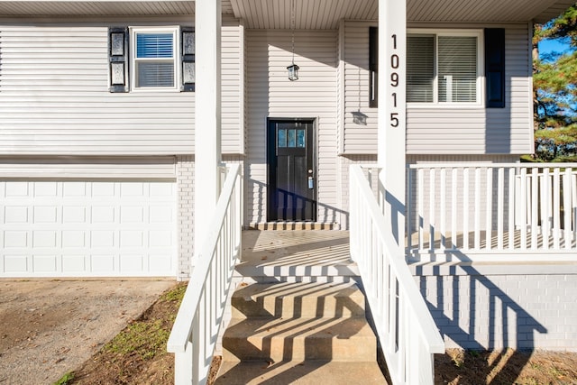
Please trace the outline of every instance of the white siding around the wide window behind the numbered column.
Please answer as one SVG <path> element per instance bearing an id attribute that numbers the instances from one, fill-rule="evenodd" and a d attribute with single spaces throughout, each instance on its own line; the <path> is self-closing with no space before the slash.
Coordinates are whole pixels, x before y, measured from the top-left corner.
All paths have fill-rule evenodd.
<path id="1" fill-rule="evenodd" d="M 377 109 L 368 107 L 369 27 L 376 23 L 345 22 L 343 154 L 377 152 Z M 482 24 L 419 24 L 411 29 L 432 31 L 454 27 L 480 31 Z M 533 151 L 533 113 L 530 36 L 527 23 L 491 25 L 505 28 L 505 108 L 481 105 L 411 105 L 407 108 L 408 154 L 523 154 Z M 481 67 L 482 68 L 482 67 Z M 484 70 L 481 70 L 481 74 Z M 484 97 L 481 77 L 481 97 Z M 482 99 L 481 99 L 482 102 Z M 483 102 L 484 104 L 484 102 Z M 353 123 L 353 112 L 367 116 L 367 124 Z"/>

